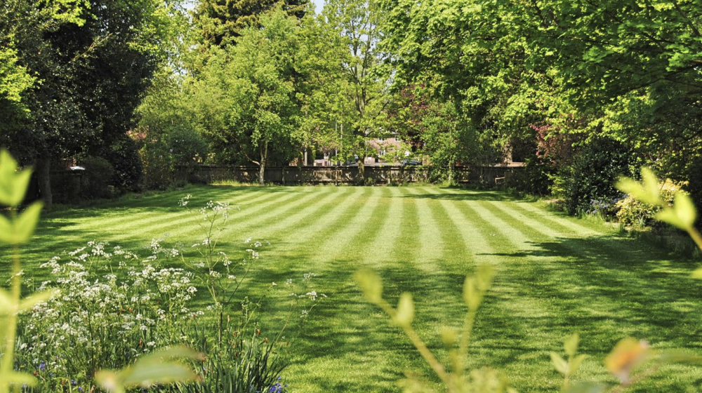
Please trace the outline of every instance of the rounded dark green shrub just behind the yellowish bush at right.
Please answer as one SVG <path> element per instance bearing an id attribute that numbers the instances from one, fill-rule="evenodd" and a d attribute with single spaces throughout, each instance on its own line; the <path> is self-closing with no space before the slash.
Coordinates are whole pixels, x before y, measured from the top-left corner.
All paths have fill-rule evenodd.
<path id="1" fill-rule="evenodd" d="M 613 201 L 620 192 L 614 183 L 631 175 L 634 160 L 630 149 L 614 139 L 597 137 L 576 156 L 565 189 L 569 214 L 591 210 L 592 201 Z"/>

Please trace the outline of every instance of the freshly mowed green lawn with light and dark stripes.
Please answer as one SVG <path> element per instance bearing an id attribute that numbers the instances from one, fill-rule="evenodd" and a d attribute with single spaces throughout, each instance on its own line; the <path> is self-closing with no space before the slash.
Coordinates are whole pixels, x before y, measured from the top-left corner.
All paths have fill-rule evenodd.
<path id="1" fill-rule="evenodd" d="M 48 213 L 25 263 L 90 240 L 132 250 L 164 234 L 171 243 L 197 243 L 203 238 L 197 215 L 178 207 L 185 194 L 192 194 L 193 208 L 208 200 L 241 208 L 232 211 L 223 250 L 239 251 L 249 237 L 270 241 L 247 284 L 249 294 L 263 293 L 272 281 L 317 274 L 315 287 L 329 298 L 291 348 L 284 378 L 293 392 L 398 391 L 395 383 L 408 369 L 436 381 L 404 335 L 360 294 L 352 274 L 362 267 L 380 273 L 390 302 L 403 291 L 413 293 L 415 326 L 444 356 L 438 329 L 460 325 L 465 275 L 476 265 L 493 265 L 496 283 L 479 311 L 470 366 L 503 370 L 519 392 L 559 391 L 562 380 L 548 352 L 562 352 L 563 338 L 574 331 L 588 354 L 576 380 L 614 382 L 602 360 L 626 336 L 702 354 L 702 287 L 689 279 L 693 262 L 499 192 L 190 187 Z M 2 259 L 8 259 L 5 252 Z M 263 312 L 262 324 L 271 330 L 284 314 L 272 302 Z M 633 391 L 696 391 L 701 379 L 692 366 L 665 366 Z"/>

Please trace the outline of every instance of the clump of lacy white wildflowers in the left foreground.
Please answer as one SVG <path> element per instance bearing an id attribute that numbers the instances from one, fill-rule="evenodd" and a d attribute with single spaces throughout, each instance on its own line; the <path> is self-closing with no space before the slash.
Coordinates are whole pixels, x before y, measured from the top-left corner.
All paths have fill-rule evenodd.
<path id="1" fill-rule="evenodd" d="M 89 388 L 89 375 L 100 368 L 124 366 L 156 347 L 185 342 L 183 322 L 202 314 L 188 307 L 197 292 L 192 273 L 159 267 L 164 248 L 154 241 L 150 249 L 152 255 L 142 260 L 90 242 L 67 253 L 65 261 L 54 257 L 42 264 L 55 279 L 39 290 L 59 292 L 20 316 L 18 368 Z M 97 258 L 103 263 L 96 265 Z M 112 260 L 121 263 L 113 269 Z"/>

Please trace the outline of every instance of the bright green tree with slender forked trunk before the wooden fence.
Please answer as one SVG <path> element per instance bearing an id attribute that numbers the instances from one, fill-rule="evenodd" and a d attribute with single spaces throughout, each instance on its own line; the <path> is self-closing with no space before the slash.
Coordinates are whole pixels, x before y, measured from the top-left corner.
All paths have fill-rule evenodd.
<path id="1" fill-rule="evenodd" d="M 219 161 L 249 161 L 264 181 L 271 161 L 286 164 L 295 154 L 299 107 L 294 80 L 298 25 L 278 8 L 247 27 L 237 45 L 216 50 L 202 73 L 204 128 Z"/>

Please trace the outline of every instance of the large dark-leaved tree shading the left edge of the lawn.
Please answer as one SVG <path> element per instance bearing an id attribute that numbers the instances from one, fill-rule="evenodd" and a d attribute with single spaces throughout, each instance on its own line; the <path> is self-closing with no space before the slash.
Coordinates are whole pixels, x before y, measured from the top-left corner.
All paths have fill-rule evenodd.
<path id="1" fill-rule="evenodd" d="M 23 161 L 36 163 L 50 204 L 52 161 L 102 154 L 126 141 L 133 109 L 154 69 L 169 55 L 172 17 L 181 10 L 178 3 L 157 0 L 57 0 L 29 6 L 37 6 L 36 14 L 30 9 L 28 15 L 38 15 L 39 22 L 10 35 L 17 64 L 41 83 L 25 91 L 29 116 L 9 127 L 2 143 Z M 66 6 L 77 11 L 58 13 Z"/>

